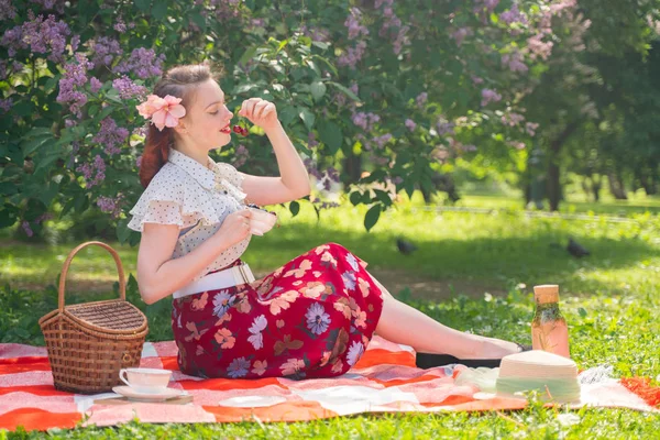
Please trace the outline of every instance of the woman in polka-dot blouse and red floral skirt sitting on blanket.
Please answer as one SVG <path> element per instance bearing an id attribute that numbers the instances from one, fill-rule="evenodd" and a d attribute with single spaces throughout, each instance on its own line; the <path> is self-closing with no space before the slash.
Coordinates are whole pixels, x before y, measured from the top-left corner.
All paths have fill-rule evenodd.
<path id="1" fill-rule="evenodd" d="M 451 355 L 498 362 L 521 350 L 450 329 L 396 300 L 339 244 L 318 246 L 254 280 L 240 260 L 251 238 L 246 204 L 282 204 L 310 191 L 275 106 L 252 98 L 239 116 L 264 130 L 280 177 L 239 173 L 208 156 L 231 141 L 233 114 L 207 65 L 172 68 L 138 109 L 152 122 L 140 166 L 146 190 L 129 223 L 142 232 L 138 282 L 147 304 L 174 297 L 182 372 L 336 376 L 358 362 L 374 332 L 431 353 L 437 364 L 457 360 Z"/>

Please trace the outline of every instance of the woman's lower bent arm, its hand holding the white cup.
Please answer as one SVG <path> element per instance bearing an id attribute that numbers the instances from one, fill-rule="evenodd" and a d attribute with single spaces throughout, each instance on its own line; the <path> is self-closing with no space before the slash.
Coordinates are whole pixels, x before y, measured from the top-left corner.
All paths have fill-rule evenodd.
<path id="1" fill-rule="evenodd" d="M 176 224 L 144 223 L 138 251 L 138 285 L 146 304 L 172 295 L 189 284 L 218 255 L 250 233 L 249 210 L 233 212 L 213 235 L 190 253 L 172 258 L 179 229 Z"/>

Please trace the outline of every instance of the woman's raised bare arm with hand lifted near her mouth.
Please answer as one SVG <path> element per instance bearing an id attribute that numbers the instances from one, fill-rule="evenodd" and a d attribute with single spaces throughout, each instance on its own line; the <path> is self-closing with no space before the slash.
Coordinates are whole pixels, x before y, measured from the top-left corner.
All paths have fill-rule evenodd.
<path id="1" fill-rule="evenodd" d="M 277 119 L 272 102 L 252 98 L 243 102 L 239 112 L 262 127 L 277 157 L 279 177 L 262 177 L 241 173 L 243 193 L 248 200 L 257 205 L 275 205 L 299 199 L 309 195 L 309 175 L 302 160 Z"/>

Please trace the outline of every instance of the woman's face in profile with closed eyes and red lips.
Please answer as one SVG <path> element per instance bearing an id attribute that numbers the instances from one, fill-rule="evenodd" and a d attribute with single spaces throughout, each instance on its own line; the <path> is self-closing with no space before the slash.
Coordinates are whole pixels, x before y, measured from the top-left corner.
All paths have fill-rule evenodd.
<path id="1" fill-rule="evenodd" d="M 231 118 L 233 113 L 224 105 L 224 92 L 213 79 L 209 79 L 194 91 L 182 118 L 185 136 L 197 146 L 208 151 L 227 145 L 231 141 Z"/>

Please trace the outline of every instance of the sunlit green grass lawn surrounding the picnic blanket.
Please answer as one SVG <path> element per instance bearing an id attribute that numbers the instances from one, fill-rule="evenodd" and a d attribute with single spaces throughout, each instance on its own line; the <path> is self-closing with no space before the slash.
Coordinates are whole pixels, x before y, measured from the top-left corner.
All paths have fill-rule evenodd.
<path id="1" fill-rule="evenodd" d="M 304 206 L 296 218 L 280 211 L 282 227 L 254 238 L 244 258 L 265 273 L 306 250 L 328 241 L 341 243 L 370 263 L 395 295 L 433 318 L 461 330 L 529 340 L 531 286 L 558 283 L 562 309 L 570 323 L 571 351 L 581 369 L 608 363 L 618 376 L 660 378 L 660 219 L 657 215 L 626 213 L 629 223 L 561 218 L 527 218 L 507 207 L 510 199 L 474 206 L 507 208 L 491 215 L 429 212 L 417 201 L 383 215 L 365 233 L 363 209 L 342 207 L 323 212 L 319 222 Z M 649 200 L 650 205 L 653 205 Z M 654 208 L 656 206 L 652 206 Z M 617 213 L 617 206 L 603 213 Z M 410 256 L 396 251 L 405 237 L 419 246 Z M 592 251 L 576 260 L 562 246 L 573 237 Z M 559 243 L 560 245 L 554 245 Z M 73 244 L 33 246 L 6 242 L 0 250 L 0 341 L 38 343 L 36 319 L 54 307 L 53 284 Z M 136 250 L 117 246 L 127 272 L 134 273 Z M 81 300 L 108 290 L 116 277 L 102 250 L 74 260 L 67 298 Z M 30 290 L 16 288 L 21 284 Z M 76 288 L 78 286 L 79 288 Z M 432 287 L 437 288 L 432 288 Z M 169 304 L 144 306 L 136 286 L 129 298 L 150 318 L 150 340 L 170 339 Z M 21 329 L 21 330 L 18 330 Z M 654 438 L 660 417 L 629 410 L 573 411 L 579 422 L 562 425 L 564 409 L 541 408 L 507 414 L 442 414 L 358 416 L 309 424 L 244 422 L 229 425 L 154 426 L 132 422 L 108 429 L 77 428 L 52 432 L 55 438 Z M 32 435 L 9 435 L 24 438 Z M 2 433 L 0 432 L 0 439 Z"/>

